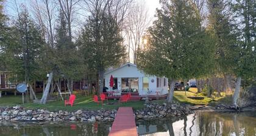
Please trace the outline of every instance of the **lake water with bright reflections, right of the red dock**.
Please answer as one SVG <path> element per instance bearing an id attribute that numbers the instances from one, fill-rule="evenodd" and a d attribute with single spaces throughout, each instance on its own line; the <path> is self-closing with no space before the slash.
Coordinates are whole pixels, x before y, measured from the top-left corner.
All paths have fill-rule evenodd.
<path id="1" fill-rule="evenodd" d="M 140 135 L 256 135 L 256 113 L 201 112 L 181 120 L 138 121 Z"/>

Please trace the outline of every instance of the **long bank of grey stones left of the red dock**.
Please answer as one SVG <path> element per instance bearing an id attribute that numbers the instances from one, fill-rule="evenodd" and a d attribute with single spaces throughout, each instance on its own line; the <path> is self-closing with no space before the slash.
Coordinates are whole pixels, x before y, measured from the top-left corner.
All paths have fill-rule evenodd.
<path id="1" fill-rule="evenodd" d="M 50 112 L 44 109 L 24 109 L 23 107 L 0 107 L 0 121 L 104 121 L 115 119 L 116 109 L 77 110 L 76 112 Z"/>

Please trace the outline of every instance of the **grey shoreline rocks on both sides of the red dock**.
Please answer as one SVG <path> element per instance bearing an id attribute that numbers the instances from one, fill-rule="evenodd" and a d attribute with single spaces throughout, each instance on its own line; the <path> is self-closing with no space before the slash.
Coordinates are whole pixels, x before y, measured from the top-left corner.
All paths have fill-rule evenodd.
<path id="1" fill-rule="evenodd" d="M 20 106 L 0 107 L 1 121 L 81 121 L 93 123 L 95 121 L 112 122 L 115 120 L 116 109 L 101 110 L 76 110 L 75 112 L 66 112 L 59 110 L 50 112 L 44 109 L 24 109 Z M 180 104 L 145 104 L 143 109 L 134 110 L 136 119 L 154 120 L 165 117 L 182 117 L 192 114 L 188 106 Z"/>

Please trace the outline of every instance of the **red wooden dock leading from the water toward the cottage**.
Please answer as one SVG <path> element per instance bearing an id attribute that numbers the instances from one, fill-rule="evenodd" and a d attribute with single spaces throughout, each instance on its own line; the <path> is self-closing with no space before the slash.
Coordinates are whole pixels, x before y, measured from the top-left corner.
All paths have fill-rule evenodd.
<path id="1" fill-rule="evenodd" d="M 119 107 L 109 136 L 137 136 L 137 127 L 132 107 Z"/>

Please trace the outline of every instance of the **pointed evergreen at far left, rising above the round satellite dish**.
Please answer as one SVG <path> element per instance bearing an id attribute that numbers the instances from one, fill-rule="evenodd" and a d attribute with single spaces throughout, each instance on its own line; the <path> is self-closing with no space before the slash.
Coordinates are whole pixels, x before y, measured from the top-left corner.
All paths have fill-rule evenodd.
<path id="1" fill-rule="evenodd" d="M 9 38 L 4 46 L 5 64 L 19 82 L 32 84 L 38 80 L 38 58 L 43 39 L 26 7 L 21 7 L 14 24 L 9 28 Z M 34 91 L 30 89 L 30 99 L 34 97 Z"/>

